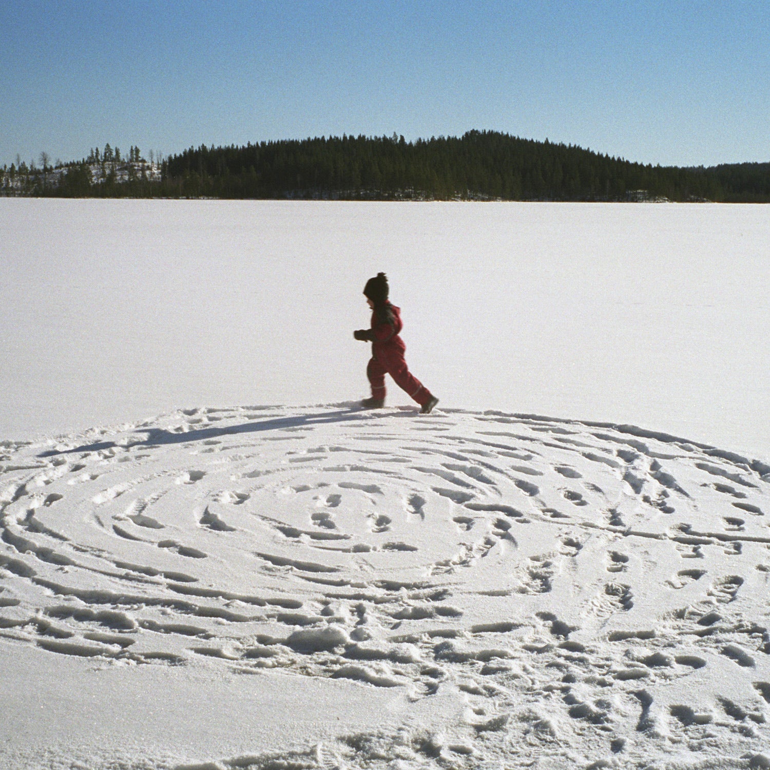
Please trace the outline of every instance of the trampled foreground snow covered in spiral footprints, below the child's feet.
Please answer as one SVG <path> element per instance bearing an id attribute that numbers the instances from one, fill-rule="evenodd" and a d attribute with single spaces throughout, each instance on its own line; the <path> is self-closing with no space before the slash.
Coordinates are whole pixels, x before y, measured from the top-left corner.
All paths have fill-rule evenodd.
<path id="1" fill-rule="evenodd" d="M 134 735 L 99 715 L 52 739 L 55 706 L 30 719 L 39 693 L 15 692 L 6 764 L 765 766 L 770 467 L 750 457 L 340 403 L 189 409 L 8 443 L 2 463 L 5 661 L 20 651 L 34 681 L 75 659 L 110 702 L 152 682 L 158 708 L 170 688 L 193 733 L 196 696 L 216 705 L 229 678 L 236 703 L 206 746 L 178 726 L 164 745 L 131 715 Z"/>

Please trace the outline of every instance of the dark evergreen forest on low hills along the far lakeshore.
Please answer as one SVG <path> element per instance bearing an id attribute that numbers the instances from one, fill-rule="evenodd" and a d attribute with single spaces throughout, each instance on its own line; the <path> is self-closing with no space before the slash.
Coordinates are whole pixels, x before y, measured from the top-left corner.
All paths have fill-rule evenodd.
<path id="1" fill-rule="evenodd" d="M 494 131 L 414 142 L 343 135 L 202 145 L 149 163 L 138 148 L 122 159 L 108 145 L 68 164 L 56 185 L 46 185 L 37 169 L 32 188 L 108 197 L 770 203 L 770 163 L 651 166 Z"/>

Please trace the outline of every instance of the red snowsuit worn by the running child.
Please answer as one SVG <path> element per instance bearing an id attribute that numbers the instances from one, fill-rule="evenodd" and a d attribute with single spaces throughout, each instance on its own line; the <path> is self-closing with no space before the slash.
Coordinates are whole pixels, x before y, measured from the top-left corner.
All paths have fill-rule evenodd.
<path id="1" fill-rule="evenodd" d="M 385 320 L 377 318 L 377 312 L 372 313 L 370 339 L 372 340 L 372 358 L 367 366 L 367 377 L 372 386 L 372 397 L 385 398 L 385 374 L 390 374 L 394 382 L 405 390 L 421 407 L 424 407 L 433 397 L 417 377 L 407 369 L 403 354 L 407 350 L 403 340 L 398 336 L 403 329 L 400 308 L 385 303 Z"/>

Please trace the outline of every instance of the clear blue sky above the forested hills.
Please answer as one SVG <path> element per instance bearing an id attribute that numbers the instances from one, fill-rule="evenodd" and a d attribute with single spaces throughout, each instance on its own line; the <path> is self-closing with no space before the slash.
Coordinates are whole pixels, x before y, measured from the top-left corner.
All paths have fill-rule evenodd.
<path id="1" fill-rule="evenodd" d="M 494 129 L 770 161 L 768 0 L 0 0 L 0 165 Z"/>

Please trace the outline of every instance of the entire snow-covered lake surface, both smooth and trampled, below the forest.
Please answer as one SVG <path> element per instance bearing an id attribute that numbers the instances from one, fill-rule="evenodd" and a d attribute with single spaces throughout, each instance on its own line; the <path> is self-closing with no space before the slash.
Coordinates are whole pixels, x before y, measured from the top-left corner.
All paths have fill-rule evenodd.
<path id="1" fill-rule="evenodd" d="M 764 209 L 0 203 L 0 765 L 770 765 Z"/>

